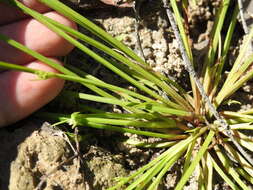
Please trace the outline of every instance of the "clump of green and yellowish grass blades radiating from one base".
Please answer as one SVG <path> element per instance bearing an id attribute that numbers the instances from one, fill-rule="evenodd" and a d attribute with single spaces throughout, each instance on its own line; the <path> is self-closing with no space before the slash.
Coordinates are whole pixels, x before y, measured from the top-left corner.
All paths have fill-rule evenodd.
<path id="1" fill-rule="evenodd" d="M 158 189 L 164 175 L 179 158 L 184 159 L 182 177 L 175 187 L 177 190 L 183 189 L 194 171 L 197 171 L 198 174 L 199 189 L 213 189 L 214 172 L 220 175 L 232 189 L 250 189 L 253 186 L 253 165 L 247 153 L 253 152 L 253 142 L 243 133 L 243 130 L 253 129 L 252 109 L 243 112 L 217 111 L 217 108 L 229 100 L 253 75 L 251 68 L 253 54 L 245 57 L 247 47 L 252 41 L 253 29 L 251 29 L 232 69 L 225 82 L 222 83 L 223 67 L 231 46 L 239 12 L 238 7 L 233 10 L 230 25 L 222 41 L 221 30 L 230 0 L 223 0 L 217 11 L 200 77 L 193 70 L 193 67 L 200 63 L 195 62 L 192 56 L 189 36 L 186 35 L 178 3 L 170 0 L 177 24 L 175 29 L 179 28 L 179 39 L 182 40 L 182 55 L 184 61 L 188 62 L 186 66 L 190 72 L 192 93 L 185 91 L 175 81 L 152 71 L 149 65 L 132 50 L 69 7 L 59 1 L 40 1 L 89 30 L 105 43 L 44 17 L 16 0 L 11 2 L 138 89 L 131 91 L 108 84 L 78 68 L 68 65 L 62 67 L 0 34 L 1 40 L 56 68 L 61 74 L 34 70 L 6 62 L 0 62 L 0 67 L 34 73 L 40 79 L 58 77 L 78 82 L 88 87 L 94 94 L 65 91 L 66 96 L 118 105 L 125 110 L 125 113 L 109 113 L 91 108 L 87 113 L 41 113 L 41 117 L 68 123 L 72 127 L 128 132 L 166 140 L 165 144 L 164 142 L 156 144 L 156 147 L 166 147 L 159 157 L 130 176 L 119 179 L 118 184 L 109 188 L 110 190 L 119 189 L 123 185 L 127 185 L 127 190 Z M 186 1 L 183 3 L 184 6 L 188 6 Z M 164 1 L 164 4 L 167 5 L 167 1 Z M 103 51 L 121 64 L 108 61 L 77 40 Z M 166 94 L 166 96 L 161 94 Z M 129 143 L 136 144 L 131 141 Z M 137 143 L 137 145 L 152 147 L 152 144 L 148 143 Z M 199 148 L 196 150 L 196 147 Z"/>

